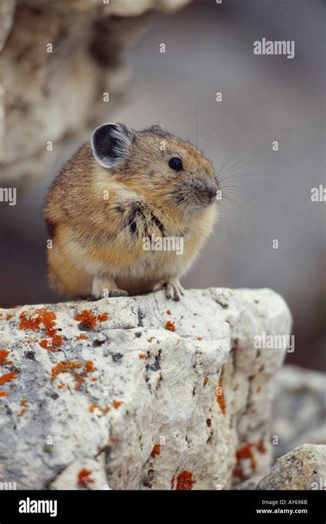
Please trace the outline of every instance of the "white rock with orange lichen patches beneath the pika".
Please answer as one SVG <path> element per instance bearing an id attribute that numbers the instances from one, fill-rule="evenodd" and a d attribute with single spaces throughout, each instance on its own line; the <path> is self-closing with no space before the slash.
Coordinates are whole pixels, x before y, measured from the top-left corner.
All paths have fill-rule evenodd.
<path id="1" fill-rule="evenodd" d="M 1 481 L 219 490 L 265 474 L 285 350 L 253 341 L 291 329 L 272 290 L 19 306 L 0 319 Z"/>

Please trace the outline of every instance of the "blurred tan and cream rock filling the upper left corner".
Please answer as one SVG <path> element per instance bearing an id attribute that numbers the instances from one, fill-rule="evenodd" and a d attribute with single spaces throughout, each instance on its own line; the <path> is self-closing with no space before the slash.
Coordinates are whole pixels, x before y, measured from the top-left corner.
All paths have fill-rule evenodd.
<path id="1" fill-rule="evenodd" d="M 165 0 L 175 8 L 187 0 Z M 49 172 L 62 146 L 85 139 L 129 79 L 120 54 L 154 0 L 6 0 L 1 6 L 1 183 Z M 49 154 L 47 142 L 55 154 Z"/>

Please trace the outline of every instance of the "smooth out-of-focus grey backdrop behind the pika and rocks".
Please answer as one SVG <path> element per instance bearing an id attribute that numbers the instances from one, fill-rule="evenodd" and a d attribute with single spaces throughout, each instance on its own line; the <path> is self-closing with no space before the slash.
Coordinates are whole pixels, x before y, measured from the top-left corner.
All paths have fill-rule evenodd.
<path id="1" fill-rule="evenodd" d="M 218 125 L 204 152 L 218 170 L 235 151 L 225 190 L 232 202 L 222 202 L 215 234 L 183 283 L 281 293 L 294 315 L 288 361 L 325 370 L 325 203 L 310 199 L 325 185 L 325 2 L 195 1 L 146 24 L 124 56 L 133 73 L 120 110 L 103 106 L 98 123 L 142 129 L 158 120 L 184 139 L 197 136 L 199 147 Z M 294 40 L 295 58 L 255 56 L 262 37 Z M 47 286 L 41 210 L 76 145 L 67 142 L 50 172 L 19 190 L 15 207 L 0 207 L 2 307 L 65 299 Z"/>

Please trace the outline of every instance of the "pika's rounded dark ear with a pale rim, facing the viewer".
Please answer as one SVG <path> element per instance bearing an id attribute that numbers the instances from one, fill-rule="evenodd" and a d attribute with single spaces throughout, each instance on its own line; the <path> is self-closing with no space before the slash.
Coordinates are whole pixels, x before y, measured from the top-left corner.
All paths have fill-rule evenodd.
<path id="1" fill-rule="evenodd" d="M 124 161 L 134 131 L 123 123 L 103 123 L 91 134 L 91 149 L 103 168 L 115 168 Z"/>

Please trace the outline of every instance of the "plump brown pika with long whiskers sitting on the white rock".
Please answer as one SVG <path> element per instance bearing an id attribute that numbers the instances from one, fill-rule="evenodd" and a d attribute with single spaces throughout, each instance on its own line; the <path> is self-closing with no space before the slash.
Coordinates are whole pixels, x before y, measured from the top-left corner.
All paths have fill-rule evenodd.
<path id="1" fill-rule="evenodd" d="M 165 288 L 180 300 L 180 276 L 213 228 L 217 190 L 210 161 L 160 125 L 100 125 L 47 196 L 50 285 L 95 299 Z"/>

